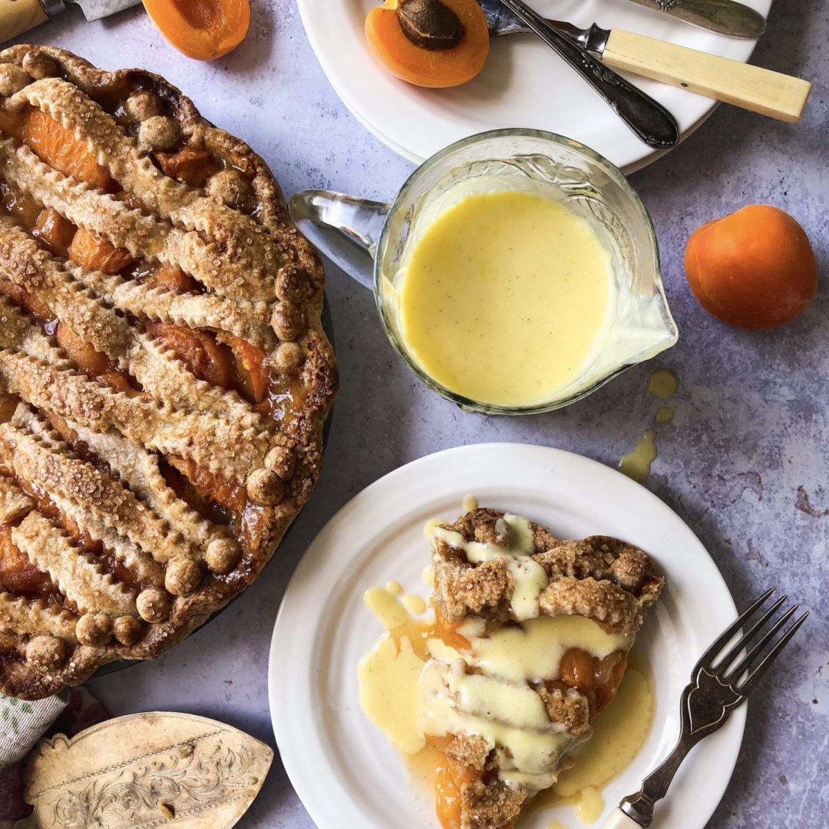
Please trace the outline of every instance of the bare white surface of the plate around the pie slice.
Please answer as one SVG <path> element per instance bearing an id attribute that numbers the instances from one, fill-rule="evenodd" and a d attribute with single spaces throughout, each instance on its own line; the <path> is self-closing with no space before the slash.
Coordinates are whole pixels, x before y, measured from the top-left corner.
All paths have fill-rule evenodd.
<path id="1" fill-rule="evenodd" d="M 604 789 L 603 818 L 671 749 L 691 667 L 736 616 L 725 582 L 691 530 L 647 489 L 601 463 L 560 449 L 480 444 L 395 470 L 342 507 L 313 541 L 288 585 L 271 642 L 274 734 L 319 829 L 437 827 L 430 798 L 409 788 L 400 756 L 360 710 L 357 662 L 381 633 L 362 594 L 390 579 L 426 594 L 424 523 L 435 516 L 453 521 L 470 493 L 482 506 L 519 512 L 560 537 L 598 533 L 631 541 L 667 575 L 635 646 L 655 678 L 654 725 L 633 764 Z M 694 749 L 659 806 L 657 826 L 705 826 L 734 769 L 744 724 L 742 706 Z M 545 829 L 553 819 L 576 823 L 570 807 L 558 807 L 520 826 Z"/>

